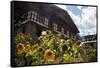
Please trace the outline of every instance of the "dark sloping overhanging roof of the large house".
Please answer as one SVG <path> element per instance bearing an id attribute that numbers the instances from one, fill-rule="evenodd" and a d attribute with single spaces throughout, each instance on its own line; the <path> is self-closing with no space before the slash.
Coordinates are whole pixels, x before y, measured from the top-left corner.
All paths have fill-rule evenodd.
<path id="1" fill-rule="evenodd" d="M 56 13 L 57 16 L 59 16 L 64 21 L 66 21 L 68 26 L 71 27 L 71 30 L 73 30 L 75 33 L 79 33 L 78 28 L 74 24 L 68 12 L 65 11 L 64 9 L 61 9 L 55 6 L 54 4 L 16 1 L 14 3 L 14 7 L 20 10 L 20 11 L 17 11 L 15 9 L 15 12 L 17 13 L 19 12 L 20 15 L 33 9 L 36 11 L 43 11 L 42 14 L 48 14 L 48 16 L 50 16 L 50 14 L 52 13 Z M 16 13 L 15 13 L 15 16 L 17 16 Z"/>

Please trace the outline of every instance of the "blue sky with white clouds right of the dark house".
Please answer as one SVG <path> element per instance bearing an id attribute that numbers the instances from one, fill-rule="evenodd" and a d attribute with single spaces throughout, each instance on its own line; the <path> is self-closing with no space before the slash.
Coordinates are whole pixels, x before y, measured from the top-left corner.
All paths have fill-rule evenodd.
<path id="1" fill-rule="evenodd" d="M 56 5 L 66 10 L 79 30 L 80 36 L 96 34 L 96 7 Z"/>

